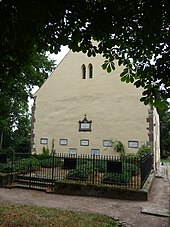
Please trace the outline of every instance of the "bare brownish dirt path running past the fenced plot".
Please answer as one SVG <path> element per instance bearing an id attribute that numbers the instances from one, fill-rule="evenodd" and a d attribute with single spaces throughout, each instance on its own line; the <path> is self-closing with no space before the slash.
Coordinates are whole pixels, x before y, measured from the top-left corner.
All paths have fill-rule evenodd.
<path id="1" fill-rule="evenodd" d="M 82 196 L 65 196 L 25 189 L 0 188 L 1 204 L 30 204 L 78 211 L 97 212 L 124 221 L 132 227 L 168 227 L 168 218 L 141 213 L 142 208 L 169 209 L 170 181 L 155 178 L 149 201 L 124 201 Z"/>

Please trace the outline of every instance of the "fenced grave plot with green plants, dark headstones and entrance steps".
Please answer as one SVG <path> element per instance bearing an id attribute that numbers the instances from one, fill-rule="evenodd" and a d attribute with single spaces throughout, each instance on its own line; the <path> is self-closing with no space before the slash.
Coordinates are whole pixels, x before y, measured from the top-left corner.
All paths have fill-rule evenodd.
<path id="1" fill-rule="evenodd" d="M 112 189 L 119 193 L 121 190 L 138 191 L 152 169 L 151 155 L 127 158 L 57 153 L 43 160 L 35 161 L 33 158 L 29 163 L 25 160 L 8 164 L 13 186 L 61 194 L 81 194 L 84 191 L 88 195 L 95 191 L 92 194 L 100 195 L 98 191 L 102 190 L 104 195 Z"/>

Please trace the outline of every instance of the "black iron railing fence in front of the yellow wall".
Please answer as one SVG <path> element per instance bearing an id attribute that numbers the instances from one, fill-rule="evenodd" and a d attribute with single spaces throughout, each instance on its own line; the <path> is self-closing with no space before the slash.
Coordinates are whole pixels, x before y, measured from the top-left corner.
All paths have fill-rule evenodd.
<path id="1" fill-rule="evenodd" d="M 63 153 L 43 159 L 33 156 L 31 159 L 12 161 L 6 166 L 7 171 L 24 179 L 25 183 L 29 182 L 29 187 L 33 184 L 39 187 L 42 184 L 53 185 L 57 181 L 67 181 L 140 189 L 151 169 L 151 155 L 137 158 Z"/>

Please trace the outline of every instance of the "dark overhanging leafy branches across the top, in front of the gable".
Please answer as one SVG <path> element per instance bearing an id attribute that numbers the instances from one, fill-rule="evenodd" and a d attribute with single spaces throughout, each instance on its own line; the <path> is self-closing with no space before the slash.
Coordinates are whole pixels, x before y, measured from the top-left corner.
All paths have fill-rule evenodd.
<path id="1" fill-rule="evenodd" d="M 58 53 L 61 45 L 68 45 L 88 56 L 103 54 L 102 67 L 108 72 L 118 60 L 125 67 L 121 80 L 144 88 L 144 104 L 166 106 L 169 0 L 2 0 L 0 14 L 0 76 L 22 80 L 35 46 L 38 52 Z M 27 76 L 24 80 L 30 82 Z"/>

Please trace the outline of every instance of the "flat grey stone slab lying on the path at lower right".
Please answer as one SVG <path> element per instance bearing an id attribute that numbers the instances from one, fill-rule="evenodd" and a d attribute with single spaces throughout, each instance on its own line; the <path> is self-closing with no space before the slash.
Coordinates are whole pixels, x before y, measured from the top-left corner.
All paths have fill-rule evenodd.
<path id="1" fill-rule="evenodd" d="M 170 217 L 170 211 L 167 209 L 159 209 L 159 208 L 153 208 L 153 207 L 147 207 L 142 208 L 141 213 L 145 214 L 151 214 L 155 216 L 161 216 L 161 217 Z"/>

